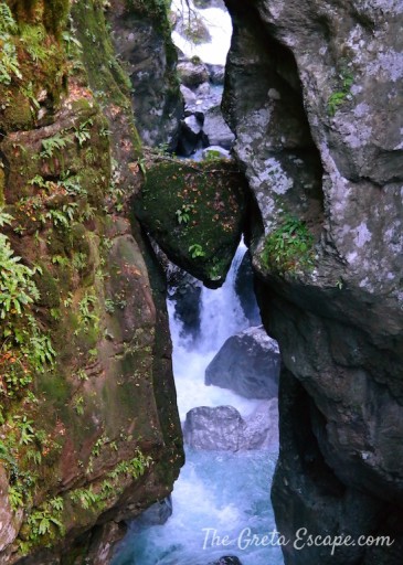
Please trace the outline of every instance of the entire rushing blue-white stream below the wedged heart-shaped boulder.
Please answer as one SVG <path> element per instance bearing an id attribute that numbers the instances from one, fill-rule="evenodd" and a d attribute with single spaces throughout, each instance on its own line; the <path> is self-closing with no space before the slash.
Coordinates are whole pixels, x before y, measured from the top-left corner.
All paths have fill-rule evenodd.
<path id="1" fill-rule="evenodd" d="M 221 289 L 203 288 L 195 342 L 183 334 L 174 305 L 168 302 L 182 422 L 197 406 L 232 405 L 247 416 L 262 402 L 204 385 L 204 370 L 213 355 L 226 338 L 248 326 L 234 289 L 244 252 L 241 245 Z M 188 448 L 172 493 L 172 515 L 163 525 L 134 521 L 113 565 L 208 565 L 224 555 L 237 556 L 243 565 L 283 564 L 272 534 L 275 523 L 269 500 L 276 458 L 275 449 L 234 454 Z"/>

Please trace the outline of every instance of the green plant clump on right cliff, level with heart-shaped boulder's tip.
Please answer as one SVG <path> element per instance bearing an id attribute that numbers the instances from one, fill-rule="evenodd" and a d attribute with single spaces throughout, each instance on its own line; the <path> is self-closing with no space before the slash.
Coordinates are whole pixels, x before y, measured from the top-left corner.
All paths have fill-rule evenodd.
<path id="1" fill-rule="evenodd" d="M 305 222 L 286 214 L 265 241 L 262 263 L 282 274 L 296 274 L 314 266 L 314 236 Z"/>

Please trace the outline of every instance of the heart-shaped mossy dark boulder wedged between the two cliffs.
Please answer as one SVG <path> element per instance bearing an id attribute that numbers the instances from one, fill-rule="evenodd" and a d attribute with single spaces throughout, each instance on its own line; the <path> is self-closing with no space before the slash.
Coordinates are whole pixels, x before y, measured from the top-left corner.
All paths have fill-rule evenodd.
<path id="1" fill-rule="evenodd" d="M 245 202 L 245 180 L 234 161 L 166 159 L 148 164 L 134 207 L 172 263 L 219 288 L 241 239 Z"/>

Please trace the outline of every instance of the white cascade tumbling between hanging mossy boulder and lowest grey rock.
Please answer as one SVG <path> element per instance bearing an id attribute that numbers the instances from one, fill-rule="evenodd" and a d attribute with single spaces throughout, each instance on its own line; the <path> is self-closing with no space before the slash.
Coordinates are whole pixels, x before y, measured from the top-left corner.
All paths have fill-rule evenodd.
<path id="1" fill-rule="evenodd" d="M 224 285 L 201 292 L 200 338 L 194 345 L 183 338 L 181 322 L 173 315 L 174 306 L 168 302 L 170 329 L 173 343 L 173 374 L 177 386 L 178 407 L 181 422 L 197 406 L 234 406 L 242 416 L 256 409 L 261 401 L 243 398 L 226 388 L 204 385 L 204 372 L 225 340 L 246 329 L 246 320 L 235 292 L 236 271 L 246 252 L 240 244 Z"/>

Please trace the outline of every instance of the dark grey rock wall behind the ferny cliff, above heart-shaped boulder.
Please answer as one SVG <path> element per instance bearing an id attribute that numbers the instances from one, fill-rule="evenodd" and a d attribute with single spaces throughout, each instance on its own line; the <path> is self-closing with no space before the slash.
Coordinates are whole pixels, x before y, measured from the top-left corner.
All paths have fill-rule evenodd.
<path id="1" fill-rule="evenodd" d="M 114 0 L 107 4 L 113 42 L 130 78 L 132 109 L 141 139 L 146 145 L 168 145 L 173 150 L 183 102 L 167 2 Z"/>

